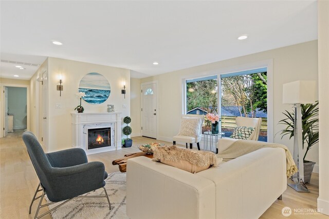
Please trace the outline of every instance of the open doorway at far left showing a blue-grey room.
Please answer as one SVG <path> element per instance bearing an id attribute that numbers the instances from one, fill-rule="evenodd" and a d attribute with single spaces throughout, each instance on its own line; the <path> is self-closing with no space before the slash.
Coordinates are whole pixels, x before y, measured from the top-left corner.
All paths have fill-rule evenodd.
<path id="1" fill-rule="evenodd" d="M 4 86 L 4 136 L 27 129 L 27 87 Z"/>

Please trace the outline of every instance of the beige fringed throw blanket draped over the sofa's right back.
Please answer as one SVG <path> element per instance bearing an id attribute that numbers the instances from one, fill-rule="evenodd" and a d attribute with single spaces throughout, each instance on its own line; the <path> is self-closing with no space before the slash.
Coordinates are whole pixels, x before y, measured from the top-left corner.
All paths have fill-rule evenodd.
<path id="1" fill-rule="evenodd" d="M 289 149 L 283 144 L 268 143 L 262 141 L 253 141 L 253 140 L 238 140 L 230 145 L 228 149 L 223 151 L 218 157 L 223 158 L 223 161 L 229 161 L 236 157 L 248 154 L 250 152 L 256 151 L 261 148 L 282 148 L 286 152 L 287 158 L 287 177 L 294 175 L 298 172 L 297 166 L 291 156 Z"/>

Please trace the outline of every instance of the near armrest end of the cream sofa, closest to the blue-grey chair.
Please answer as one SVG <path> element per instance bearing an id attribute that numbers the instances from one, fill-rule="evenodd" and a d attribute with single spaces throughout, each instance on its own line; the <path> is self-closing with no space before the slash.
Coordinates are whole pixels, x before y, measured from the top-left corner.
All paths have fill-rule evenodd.
<path id="1" fill-rule="evenodd" d="M 215 218 L 213 181 L 147 157 L 127 160 L 130 218 Z"/>

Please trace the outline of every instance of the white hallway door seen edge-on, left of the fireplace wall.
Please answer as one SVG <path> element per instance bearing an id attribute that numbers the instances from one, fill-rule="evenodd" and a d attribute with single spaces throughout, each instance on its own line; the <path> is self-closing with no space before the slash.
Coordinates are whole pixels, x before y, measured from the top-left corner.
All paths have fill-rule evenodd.
<path id="1" fill-rule="evenodd" d="M 42 137 L 41 137 L 41 145 L 45 152 L 48 152 L 48 72 L 45 71 L 42 74 L 42 90 L 41 90 L 41 98 L 42 98 Z"/>

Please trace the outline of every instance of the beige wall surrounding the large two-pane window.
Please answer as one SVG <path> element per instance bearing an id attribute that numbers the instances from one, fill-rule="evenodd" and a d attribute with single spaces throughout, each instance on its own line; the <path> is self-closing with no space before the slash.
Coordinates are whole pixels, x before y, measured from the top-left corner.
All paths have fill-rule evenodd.
<path id="1" fill-rule="evenodd" d="M 191 67 L 169 72 L 154 77 L 141 79 L 141 83 L 158 81 L 158 139 L 171 141 L 178 133 L 179 119 L 182 113 L 182 80 L 207 75 L 216 75 L 218 72 L 230 72 L 239 66 L 257 66 L 259 62 L 272 60 L 273 63 L 273 133 L 278 133 L 284 126 L 277 125 L 283 119 L 282 112 L 290 110 L 291 106 L 282 103 L 282 85 L 296 80 L 318 81 L 318 50 L 317 41 L 306 42 L 293 46 L 273 49 L 250 54 L 225 61 Z M 217 72 L 217 73 L 216 73 Z M 139 108 L 132 108 L 137 113 Z M 133 118 L 138 120 L 139 118 Z M 278 134 L 274 141 L 287 145 L 292 151 L 293 139 L 281 139 Z M 307 159 L 318 163 L 318 147 L 315 145 L 308 153 Z"/>

